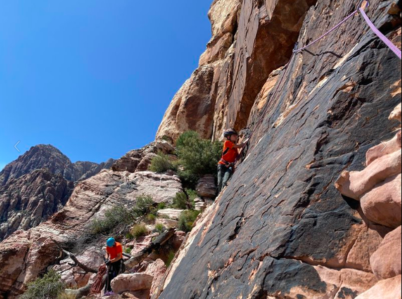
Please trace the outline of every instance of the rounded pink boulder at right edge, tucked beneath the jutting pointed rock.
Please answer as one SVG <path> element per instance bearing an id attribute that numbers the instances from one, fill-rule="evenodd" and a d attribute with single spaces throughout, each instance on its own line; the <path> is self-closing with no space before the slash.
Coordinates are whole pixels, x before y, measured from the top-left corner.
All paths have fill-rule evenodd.
<path id="1" fill-rule="evenodd" d="M 391 228 L 401 225 L 401 175 L 376 185 L 361 197 L 360 204 L 370 221 Z"/>

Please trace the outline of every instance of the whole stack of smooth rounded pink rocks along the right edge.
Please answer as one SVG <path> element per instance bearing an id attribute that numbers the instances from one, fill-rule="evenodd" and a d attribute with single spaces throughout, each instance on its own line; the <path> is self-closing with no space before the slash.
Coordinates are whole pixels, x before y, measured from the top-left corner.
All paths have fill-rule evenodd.
<path id="1" fill-rule="evenodd" d="M 401 121 L 400 104 L 389 120 Z M 401 140 L 400 129 L 395 137 L 367 151 L 366 168 L 344 171 L 336 182 L 345 196 L 360 201 L 364 216 L 373 223 L 393 229 L 371 255 L 370 264 L 379 282 L 359 295 L 358 299 L 398 298 L 401 296 Z"/>

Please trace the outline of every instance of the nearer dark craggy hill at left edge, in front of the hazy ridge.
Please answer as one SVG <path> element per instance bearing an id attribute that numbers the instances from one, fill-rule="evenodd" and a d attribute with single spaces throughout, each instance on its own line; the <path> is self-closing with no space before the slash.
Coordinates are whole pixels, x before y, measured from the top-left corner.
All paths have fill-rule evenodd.
<path id="1" fill-rule="evenodd" d="M 35 170 L 0 187 L 0 241 L 49 219 L 67 202 L 74 184 L 61 174 Z"/>

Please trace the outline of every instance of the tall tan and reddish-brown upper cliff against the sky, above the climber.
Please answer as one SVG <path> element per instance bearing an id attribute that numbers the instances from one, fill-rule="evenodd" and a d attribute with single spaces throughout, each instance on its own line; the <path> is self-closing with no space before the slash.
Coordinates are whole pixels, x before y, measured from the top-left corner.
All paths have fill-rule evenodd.
<path id="1" fill-rule="evenodd" d="M 246 126 L 270 73 L 285 64 L 305 13 L 316 0 L 216 0 L 212 39 L 199 68 L 174 96 L 157 138 L 186 130 L 220 138 L 225 127 Z"/>

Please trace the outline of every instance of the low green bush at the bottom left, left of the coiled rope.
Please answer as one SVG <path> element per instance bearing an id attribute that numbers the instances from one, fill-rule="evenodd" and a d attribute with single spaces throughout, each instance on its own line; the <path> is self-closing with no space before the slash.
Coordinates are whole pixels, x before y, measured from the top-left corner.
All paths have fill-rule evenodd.
<path id="1" fill-rule="evenodd" d="M 28 283 L 27 291 L 20 299 L 57 299 L 64 290 L 64 283 L 56 271 L 50 270 L 42 278 Z"/>

